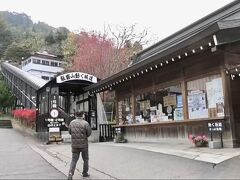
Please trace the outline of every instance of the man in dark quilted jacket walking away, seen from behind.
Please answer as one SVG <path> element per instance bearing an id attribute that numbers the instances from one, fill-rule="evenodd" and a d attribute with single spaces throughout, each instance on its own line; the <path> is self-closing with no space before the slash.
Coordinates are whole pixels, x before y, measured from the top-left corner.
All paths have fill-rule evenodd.
<path id="1" fill-rule="evenodd" d="M 84 112 L 76 112 L 76 119 L 71 121 L 68 127 L 69 134 L 72 139 L 72 161 L 68 174 L 68 179 L 72 179 L 76 164 L 79 159 L 80 152 L 83 159 L 83 177 L 89 177 L 88 174 L 88 137 L 92 133 L 92 129 L 87 121 L 84 120 Z"/>

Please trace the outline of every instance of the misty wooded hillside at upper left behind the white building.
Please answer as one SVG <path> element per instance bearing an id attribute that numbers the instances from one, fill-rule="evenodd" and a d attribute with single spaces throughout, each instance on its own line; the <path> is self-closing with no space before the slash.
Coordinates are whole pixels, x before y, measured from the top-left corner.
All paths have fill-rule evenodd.
<path id="1" fill-rule="evenodd" d="M 21 61 L 36 51 L 63 55 L 63 43 L 70 31 L 45 22 L 34 23 L 25 13 L 0 11 L 0 59 Z"/>

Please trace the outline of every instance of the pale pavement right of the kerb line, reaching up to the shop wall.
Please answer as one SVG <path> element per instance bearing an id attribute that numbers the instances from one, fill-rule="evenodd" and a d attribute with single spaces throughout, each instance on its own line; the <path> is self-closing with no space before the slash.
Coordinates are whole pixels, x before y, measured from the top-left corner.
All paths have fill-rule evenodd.
<path id="1" fill-rule="evenodd" d="M 68 174 L 70 143 L 46 145 L 26 134 L 32 150 Z M 89 143 L 91 176 L 87 179 L 239 179 L 239 152 L 233 148 L 214 150 L 159 143 Z M 81 171 L 80 158 L 73 178 L 83 179 Z"/>

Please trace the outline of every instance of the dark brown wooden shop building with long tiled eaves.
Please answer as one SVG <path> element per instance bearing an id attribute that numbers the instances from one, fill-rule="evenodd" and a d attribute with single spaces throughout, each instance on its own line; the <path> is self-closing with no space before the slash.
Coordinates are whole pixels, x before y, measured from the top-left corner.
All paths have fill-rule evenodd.
<path id="1" fill-rule="evenodd" d="M 238 71 L 240 2 L 234 1 L 138 53 L 130 67 L 86 90 L 115 92 L 116 127 L 130 142 L 189 143 L 189 134 L 210 139 L 208 123 L 221 122 L 224 147 L 238 147 Z"/>

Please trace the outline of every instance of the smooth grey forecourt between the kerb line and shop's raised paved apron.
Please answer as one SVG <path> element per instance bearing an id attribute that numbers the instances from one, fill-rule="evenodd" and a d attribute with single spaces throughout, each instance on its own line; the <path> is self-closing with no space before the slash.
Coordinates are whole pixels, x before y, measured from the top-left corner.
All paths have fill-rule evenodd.
<path id="1" fill-rule="evenodd" d="M 67 163 L 70 145 L 45 146 L 46 151 Z M 173 147 L 174 148 L 174 147 Z M 218 165 L 146 150 L 90 143 L 90 174 L 93 179 L 239 179 L 240 157 Z M 78 168 L 81 171 L 81 160 Z M 67 163 L 67 168 L 69 163 Z M 102 178 L 101 174 L 106 175 Z"/>

